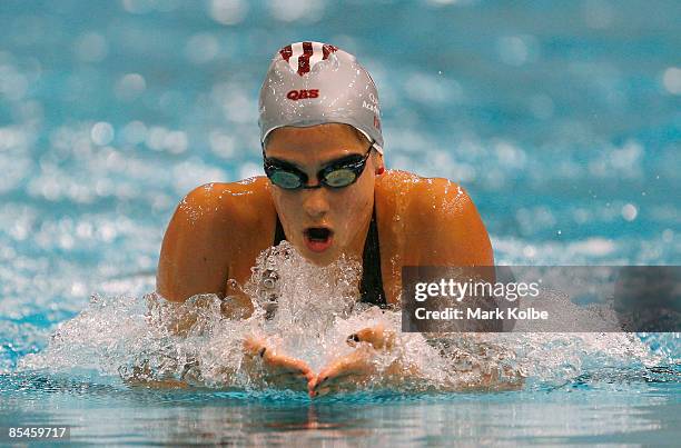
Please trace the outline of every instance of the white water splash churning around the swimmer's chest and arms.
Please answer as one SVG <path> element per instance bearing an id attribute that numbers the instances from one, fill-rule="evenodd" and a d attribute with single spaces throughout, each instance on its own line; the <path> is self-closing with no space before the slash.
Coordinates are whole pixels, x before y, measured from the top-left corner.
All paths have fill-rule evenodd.
<path id="1" fill-rule="evenodd" d="M 327 267 L 312 265 L 284 241 L 257 259 L 243 288 L 254 303 L 245 319 L 226 318 L 221 311 L 230 298 L 215 295 L 184 303 L 156 293 L 95 296 L 18 370 L 96 370 L 128 382 L 253 390 L 259 386 L 244 368 L 243 354 L 251 336 L 315 372 L 339 357 L 372 352 L 373 369 L 363 382 L 369 390 L 553 387 L 588 372 L 643 372 L 674 362 L 633 333 L 403 333 L 398 310 L 358 301 L 361 272 L 358 261 L 345 258 Z M 366 328 L 387 335 L 383 349 L 348 344 L 348 336 Z"/>

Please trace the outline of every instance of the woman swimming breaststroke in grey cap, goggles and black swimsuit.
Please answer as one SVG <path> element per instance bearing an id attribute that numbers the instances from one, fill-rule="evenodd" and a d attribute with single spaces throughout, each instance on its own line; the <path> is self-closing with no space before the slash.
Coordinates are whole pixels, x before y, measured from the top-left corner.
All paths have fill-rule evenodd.
<path id="1" fill-rule="evenodd" d="M 342 255 L 362 260 L 358 295 L 376 306 L 398 305 L 403 266 L 494 265 L 462 187 L 385 168 L 378 92 L 354 56 L 319 42 L 284 47 L 260 90 L 259 126 L 266 176 L 198 187 L 177 207 L 157 272 L 167 300 L 229 296 L 224 312 L 248 316 L 253 303 L 238 285 L 282 240 L 318 266 Z M 384 335 L 357 328 L 348 340 L 356 351 L 318 374 L 257 338 L 244 351 L 285 387 L 315 396 L 367 377 L 372 357 L 391 348 Z"/>

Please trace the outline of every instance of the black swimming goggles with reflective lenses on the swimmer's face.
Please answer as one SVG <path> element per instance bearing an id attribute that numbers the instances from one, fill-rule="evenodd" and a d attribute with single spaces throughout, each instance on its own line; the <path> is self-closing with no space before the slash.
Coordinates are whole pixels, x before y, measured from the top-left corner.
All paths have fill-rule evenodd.
<path id="1" fill-rule="evenodd" d="M 322 186 L 343 188 L 355 183 L 359 176 L 362 176 L 366 167 L 366 160 L 372 153 L 373 148 L 374 142 L 372 141 L 372 145 L 364 156 L 348 156 L 322 168 L 319 172 L 317 172 L 317 180 L 319 183 L 316 186 L 307 185 L 307 175 L 299 168 L 283 160 L 269 159 L 265 156 L 265 150 L 263 150 L 265 173 L 272 183 L 285 190 L 322 188 Z"/>

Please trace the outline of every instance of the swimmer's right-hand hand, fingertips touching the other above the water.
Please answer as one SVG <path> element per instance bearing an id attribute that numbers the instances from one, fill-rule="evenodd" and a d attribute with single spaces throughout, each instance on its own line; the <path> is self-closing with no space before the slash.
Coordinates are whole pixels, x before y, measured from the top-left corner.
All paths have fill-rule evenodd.
<path id="1" fill-rule="evenodd" d="M 376 356 L 391 351 L 395 333 L 382 325 L 362 329 L 347 337 L 347 344 L 356 350 L 334 359 L 316 378 L 309 381 L 310 397 L 347 390 L 368 384 L 376 374 Z"/>

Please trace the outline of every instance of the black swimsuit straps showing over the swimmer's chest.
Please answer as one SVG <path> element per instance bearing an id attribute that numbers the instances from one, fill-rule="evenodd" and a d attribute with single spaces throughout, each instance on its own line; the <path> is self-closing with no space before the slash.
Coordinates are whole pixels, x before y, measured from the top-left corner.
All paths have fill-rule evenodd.
<path id="1" fill-rule="evenodd" d="M 285 239 L 286 235 L 284 235 L 284 228 L 277 216 L 274 246 L 277 246 Z M 375 208 L 372 213 L 369 230 L 364 241 L 364 255 L 362 258 L 362 283 L 359 285 L 359 292 L 362 293 L 361 301 L 385 307 L 387 302 L 385 300 L 385 291 L 383 290 L 383 277 L 381 276 L 381 252 L 378 251 L 378 228 L 376 226 Z"/>

